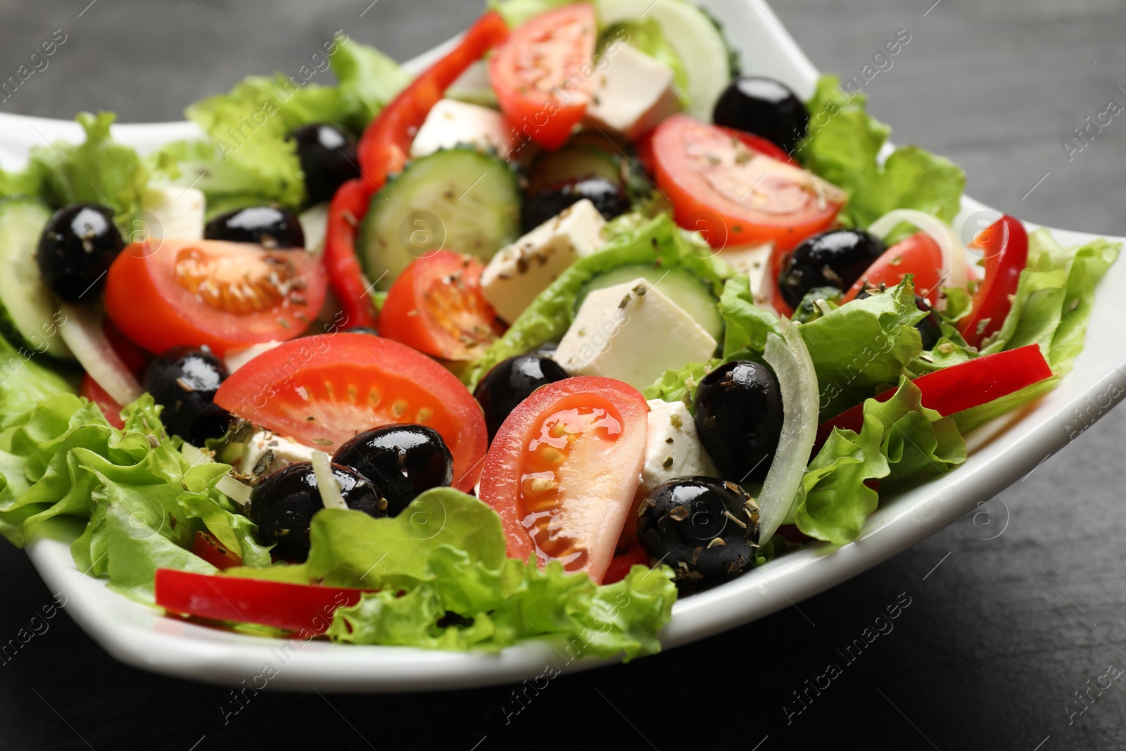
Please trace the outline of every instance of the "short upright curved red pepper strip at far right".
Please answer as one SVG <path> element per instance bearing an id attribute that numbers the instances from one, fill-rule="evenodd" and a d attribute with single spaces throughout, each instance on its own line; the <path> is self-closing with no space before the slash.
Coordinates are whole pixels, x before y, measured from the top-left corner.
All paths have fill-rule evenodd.
<path id="1" fill-rule="evenodd" d="M 985 278 L 974 293 L 973 309 L 958 324 L 971 347 L 995 333 L 1012 310 L 1020 272 L 1028 266 L 1028 232 L 1006 214 L 977 235 L 976 244 L 985 251 Z"/>

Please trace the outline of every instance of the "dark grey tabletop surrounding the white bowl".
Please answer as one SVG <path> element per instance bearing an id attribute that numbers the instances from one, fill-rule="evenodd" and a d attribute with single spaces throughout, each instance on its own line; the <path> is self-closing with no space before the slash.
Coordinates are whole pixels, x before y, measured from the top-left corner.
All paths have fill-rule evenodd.
<path id="1" fill-rule="evenodd" d="M 54 29 L 68 34 L 50 66 L 0 111 L 70 117 L 101 108 L 124 122 L 178 119 L 186 104 L 242 75 L 295 71 L 339 28 L 405 60 L 464 28 L 483 0 L 368 1 L 0 0 L 0 78 Z M 1126 87 L 1120 0 L 932 2 L 789 0 L 776 11 L 821 69 L 846 77 L 906 28 L 910 44 L 866 87 L 896 143 L 949 155 L 966 169 L 967 191 L 1002 211 L 1126 234 L 1126 119 L 1115 118 L 1071 161 L 1061 145 L 1108 100 L 1126 104 L 1116 88 Z M 1112 662 L 1126 667 L 1124 445 L 1119 410 L 989 513 L 798 604 L 799 611 L 631 665 L 557 678 L 508 723 L 501 707 L 511 688 L 498 687 L 262 694 L 224 725 L 226 689 L 120 665 L 55 618 L 0 665 L 0 748 L 1123 749 L 1126 676 L 1101 696 L 1092 691 L 1083 714 L 1070 713 L 1084 707 L 1075 691 L 1088 679 Z M 0 570 L 7 641 L 51 594 L 5 543 Z M 787 723 L 784 703 L 799 708 L 793 691 L 830 661 L 843 665 L 838 650 L 902 592 L 911 605 L 894 631 Z"/>

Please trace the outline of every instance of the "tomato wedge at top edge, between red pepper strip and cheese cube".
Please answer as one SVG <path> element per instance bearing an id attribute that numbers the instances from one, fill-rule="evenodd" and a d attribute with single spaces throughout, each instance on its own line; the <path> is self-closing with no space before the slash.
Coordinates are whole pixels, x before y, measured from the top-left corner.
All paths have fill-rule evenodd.
<path id="1" fill-rule="evenodd" d="M 577 2 L 516 29 L 489 61 L 489 82 L 509 123 L 558 149 L 587 113 L 583 84 L 593 74 L 595 7 Z"/>

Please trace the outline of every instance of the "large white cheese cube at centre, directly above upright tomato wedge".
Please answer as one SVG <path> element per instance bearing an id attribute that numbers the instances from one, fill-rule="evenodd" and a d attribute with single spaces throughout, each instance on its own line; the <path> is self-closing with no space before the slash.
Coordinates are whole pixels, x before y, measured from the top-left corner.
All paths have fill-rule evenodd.
<path id="1" fill-rule="evenodd" d="M 616 378 L 640 391 L 665 370 L 707 360 L 716 343 L 659 287 L 638 277 L 587 295 L 555 359 L 572 375 Z"/>

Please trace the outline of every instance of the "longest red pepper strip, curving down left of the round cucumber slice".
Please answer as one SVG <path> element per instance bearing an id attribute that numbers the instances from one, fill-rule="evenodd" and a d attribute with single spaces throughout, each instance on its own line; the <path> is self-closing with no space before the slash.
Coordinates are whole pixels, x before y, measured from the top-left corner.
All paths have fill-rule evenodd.
<path id="1" fill-rule="evenodd" d="M 360 136 L 358 157 L 363 177 L 337 189 L 329 206 L 324 236 L 324 266 L 329 285 L 347 316 L 348 327 L 375 327 L 376 312 L 369 295 L 372 283 L 356 257 L 356 232 L 367 214 L 372 196 L 387 176 L 403 169 L 411 141 L 446 89 L 498 42 L 508 27 L 494 11 L 486 12 L 445 57 L 427 69 L 383 108 Z"/>

